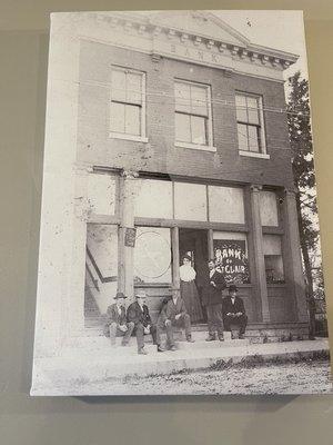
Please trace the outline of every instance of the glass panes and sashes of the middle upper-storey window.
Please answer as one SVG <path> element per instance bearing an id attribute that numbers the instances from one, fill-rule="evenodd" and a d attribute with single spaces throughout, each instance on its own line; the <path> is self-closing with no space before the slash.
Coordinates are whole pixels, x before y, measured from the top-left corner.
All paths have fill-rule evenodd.
<path id="1" fill-rule="evenodd" d="M 212 146 L 211 91 L 208 85 L 178 80 L 175 96 L 175 142 Z"/>

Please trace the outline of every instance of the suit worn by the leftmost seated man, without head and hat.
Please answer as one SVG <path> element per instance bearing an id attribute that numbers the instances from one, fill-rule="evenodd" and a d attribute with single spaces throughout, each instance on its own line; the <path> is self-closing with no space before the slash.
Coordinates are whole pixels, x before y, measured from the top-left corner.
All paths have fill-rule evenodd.
<path id="1" fill-rule="evenodd" d="M 104 334 L 110 337 L 111 345 L 115 345 L 115 337 L 119 336 L 123 336 L 122 344 L 127 345 L 132 335 L 134 324 L 128 323 L 125 308 L 121 306 L 119 310 L 117 304 L 113 303 L 113 305 L 108 307 L 107 317 Z M 128 328 L 125 333 L 119 328 L 119 326 L 123 325 Z"/>

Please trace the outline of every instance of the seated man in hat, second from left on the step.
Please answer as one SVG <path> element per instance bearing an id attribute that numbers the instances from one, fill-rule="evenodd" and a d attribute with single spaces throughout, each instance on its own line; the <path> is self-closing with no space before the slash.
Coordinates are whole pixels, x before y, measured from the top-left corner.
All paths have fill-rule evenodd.
<path id="1" fill-rule="evenodd" d="M 134 333 L 138 342 L 138 354 L 148 354 L 144 349 L 144 334 L 151 334 L 153 344 L 158 345 L 158 350 L 162 352 L 160 344 L 157 342 L 157 327 L 152 324 L 148 306 L 145 305 L 147 294 L 140 290 L 135 295 L 137 301 L 132 303 L 128 308 L 128 322 L 134 324 Z"/>

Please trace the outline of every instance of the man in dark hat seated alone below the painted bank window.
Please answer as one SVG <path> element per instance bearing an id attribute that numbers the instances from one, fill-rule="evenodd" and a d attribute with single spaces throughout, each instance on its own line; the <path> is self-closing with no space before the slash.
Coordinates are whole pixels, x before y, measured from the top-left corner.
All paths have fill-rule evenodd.
<path id="1" fill-rule="evenodd" d="M 244 338 L 245 328 L 248 324 L 248 316 L 245 314 L 244 303 L 239 297 L 238 288 L 235 285 L 229 286 L 229 295 L 223 299 L 223 324 L 224 329 L 231 332 L 231 325 L 236 325 L 240 328 L 239 338 Z"/>

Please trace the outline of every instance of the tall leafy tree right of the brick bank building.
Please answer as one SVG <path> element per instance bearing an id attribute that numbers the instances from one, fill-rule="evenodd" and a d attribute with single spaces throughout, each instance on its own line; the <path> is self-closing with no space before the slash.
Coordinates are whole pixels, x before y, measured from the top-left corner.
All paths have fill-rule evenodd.
<path id="1" fill-rule="evenodd" d="M 304 265 L 310 336 L 315 334 L 314 268 L 319 251 L 315 175 L 310 120 L 309 82 L 297 71 L 289 79 L 287 123 L 292 149 L 301 251 Z"/>

